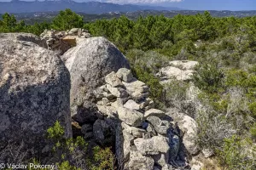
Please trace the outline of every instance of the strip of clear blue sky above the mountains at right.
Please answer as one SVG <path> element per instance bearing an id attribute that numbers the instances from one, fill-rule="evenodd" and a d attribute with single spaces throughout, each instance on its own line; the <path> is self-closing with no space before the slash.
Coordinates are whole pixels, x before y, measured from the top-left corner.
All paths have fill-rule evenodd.
<path id="1" fill-rule="evenodd" d="M 0 0 L 9 1 L 9 0 Z M 32 1 L 32 0 L 27 0 Z M 75 0 L 170 6 L 192 10 L 256 10 L 256 0 Z"/>

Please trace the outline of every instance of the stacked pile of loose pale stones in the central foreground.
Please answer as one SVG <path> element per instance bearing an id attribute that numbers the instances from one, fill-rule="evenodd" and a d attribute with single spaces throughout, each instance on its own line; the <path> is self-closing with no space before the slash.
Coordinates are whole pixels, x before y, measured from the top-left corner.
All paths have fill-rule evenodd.
<path id="1" fill-rule="evenodd" d="M 116 155 L 124 169 L 171 169 L 169 163 L 176 159 L 180 145 L 172 117 L 154 109 L 148 86 L 133 77 L 130 70 L 113 71 L 105 82 L 95 90 L 102 114 L 93 127 L 95 136 L 104 139 L 102 129 L 95 127 L 99 122 L 113 126 Z"/>

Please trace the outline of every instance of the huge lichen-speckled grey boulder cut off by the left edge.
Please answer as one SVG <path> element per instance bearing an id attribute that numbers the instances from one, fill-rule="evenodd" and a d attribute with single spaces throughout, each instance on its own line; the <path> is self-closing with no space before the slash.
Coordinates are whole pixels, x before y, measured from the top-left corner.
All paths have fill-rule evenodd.
<path id="1" fill-rule="evenodd" d="M 56 121 L 65 127 L 66 136 L 72 137 L 70 76 L 64 63 L 33 43 L 39 40 L 30 34 L 0 37 L 1 146 L 24 141 L 38 153 L 47 143 L 47 129 Z"/>

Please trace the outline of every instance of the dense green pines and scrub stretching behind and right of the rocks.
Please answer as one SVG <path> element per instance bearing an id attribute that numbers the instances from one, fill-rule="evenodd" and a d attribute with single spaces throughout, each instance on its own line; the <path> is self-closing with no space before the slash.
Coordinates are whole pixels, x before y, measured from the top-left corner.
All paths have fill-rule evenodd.
<path id="1" fill-rule="evenodd" d="M 9 14 L 0 20 L 0 32 L 39 35 L 44 29 L 72 27 L 84 27 L 116 44 L 161 109 L 175 106 L 183 111 L 190 84 L 177 81 L 162 86 L 155 76 L 159 68 L 172 59 L 199 61 L 193 82 L 200 94 L 192 103 L 203 109 L 188 114 L 198 122 L 201 149 L 215 150 L 223 169 L 256 168 L 256 16 L 213 18 L 205 12 L 172 19 L 148 15 L 133 21 L 122 16 L 83 23 L 67 9 L 49 24 L 26 26 Z"/>

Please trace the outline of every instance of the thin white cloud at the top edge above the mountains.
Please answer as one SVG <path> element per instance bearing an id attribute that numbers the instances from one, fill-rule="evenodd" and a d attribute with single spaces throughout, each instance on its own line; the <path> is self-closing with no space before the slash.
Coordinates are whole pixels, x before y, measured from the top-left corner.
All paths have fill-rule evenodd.
<path id="1" fill-rule="evenodd" d="M 107 3 L 179 3 L 183 0 L 107 0 Z"/>

